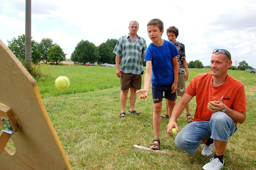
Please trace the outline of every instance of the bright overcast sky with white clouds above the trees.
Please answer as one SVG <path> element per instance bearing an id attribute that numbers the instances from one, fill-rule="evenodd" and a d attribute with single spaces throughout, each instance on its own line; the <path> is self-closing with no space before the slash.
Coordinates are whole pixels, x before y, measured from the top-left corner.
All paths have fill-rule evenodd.
<path id="1" fill-rule="evenodd" d="M 131 4 L 133 3 L 133 4 Z M 229 50 L 233 65 L 245 60 L 256 68 L 256 1 L 156 0 L 32 0 L 32 40 L 51 38 L 70 58 L 76 44 L 96 46 L 129 33 L 131 20 L 139 22 L 138 35 L 147 34 L 150 19 L 159 18 L 164 30 L 179 28 L 177 41 L 185 44 L 187 61 L 210 65 L 212 50 Z M 25 0 L 0 0 L 0 39 L 25 34 Z M 163 39 L 167 39 L 164 32 Z"/>

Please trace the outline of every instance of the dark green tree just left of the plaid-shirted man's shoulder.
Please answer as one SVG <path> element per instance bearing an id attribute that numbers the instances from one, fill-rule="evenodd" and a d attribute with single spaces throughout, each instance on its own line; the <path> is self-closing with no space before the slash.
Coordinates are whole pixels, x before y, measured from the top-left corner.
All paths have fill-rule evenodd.
<path id="1" fill-rule="evenodd" d="M 99 63 L 113 63 L 113 53 L 107 43 L 101 43 L 98 46 L 100 58 Z"/>

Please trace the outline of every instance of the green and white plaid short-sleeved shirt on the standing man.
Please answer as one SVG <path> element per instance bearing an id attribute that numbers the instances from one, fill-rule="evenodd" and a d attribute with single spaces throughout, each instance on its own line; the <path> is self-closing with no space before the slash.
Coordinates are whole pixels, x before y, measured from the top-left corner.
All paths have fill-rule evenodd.
<path id="1" fill-rule="evenodd" d="M 144 38 L 137 35 L 133 42 L 129 35 L 121 36 L 116 43 L 113 53 L 120 56 L 120 70 L 123 73 L 140 74 L 144 67 L 141 56 L 147 48 Z"/>

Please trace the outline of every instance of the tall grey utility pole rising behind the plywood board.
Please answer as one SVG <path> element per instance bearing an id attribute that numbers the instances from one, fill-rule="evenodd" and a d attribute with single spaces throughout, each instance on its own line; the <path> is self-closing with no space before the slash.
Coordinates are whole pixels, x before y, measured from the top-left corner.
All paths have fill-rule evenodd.
<path id="1" fill-rule="evenodd" d="M 25 61 L 31 64 L 31 0 L 26 0 Z"/>

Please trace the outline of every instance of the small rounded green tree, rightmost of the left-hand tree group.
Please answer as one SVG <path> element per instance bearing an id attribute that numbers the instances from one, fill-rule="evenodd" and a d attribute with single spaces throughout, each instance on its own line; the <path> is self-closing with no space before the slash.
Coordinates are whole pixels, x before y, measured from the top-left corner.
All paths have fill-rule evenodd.
<path id="1" fill-rule="evenodd" d="M 53 47 L 50 47 L 47 55 L 48 61 L 53 64 L 56 63 L 56 65 L 66 59 L 66 54 L 63 52 L 62 48 L 60 48 L 59 45 L 54 45 Z"/>

